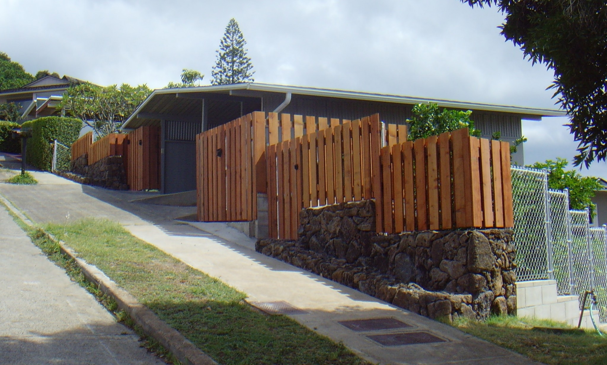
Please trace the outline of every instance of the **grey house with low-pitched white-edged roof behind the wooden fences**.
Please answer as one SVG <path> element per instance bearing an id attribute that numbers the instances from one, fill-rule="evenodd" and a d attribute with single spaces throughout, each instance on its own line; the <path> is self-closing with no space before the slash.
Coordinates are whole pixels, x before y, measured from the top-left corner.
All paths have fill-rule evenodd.
<path id="1" fill-rule="evenodd" d="M 161 192 L 170 193 L 195 189 L 196 134 L 253 111 L 351 120 L 379 113 L 384 122 L 405 124 L 413 105 L 429 102 L 472 110 L 471 118 L 484 137 L 500 131 L 509 142 L 521 137 L 522 119 L 565 115 L 557 110 L 250 83 L 154 90 L 122 128 L 161 127 Z M 513 161 L 523 165 L 523 146 Z"/>

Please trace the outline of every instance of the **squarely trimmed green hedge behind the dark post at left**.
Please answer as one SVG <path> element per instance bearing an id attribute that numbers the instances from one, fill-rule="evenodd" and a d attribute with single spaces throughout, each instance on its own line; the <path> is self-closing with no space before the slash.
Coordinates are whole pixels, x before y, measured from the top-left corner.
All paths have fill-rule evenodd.
<path id="1" fill-rule="evenodd" d="M 32 128 L 32 138 L 27 140 L 27 163 L 39 169 L 50 171 L 53 162 L 51 143 L 57 142 L 71 146 L 76 142 L 82 120 L 66 117 L 42 117 L 21 125 L 21 129 Z"/>

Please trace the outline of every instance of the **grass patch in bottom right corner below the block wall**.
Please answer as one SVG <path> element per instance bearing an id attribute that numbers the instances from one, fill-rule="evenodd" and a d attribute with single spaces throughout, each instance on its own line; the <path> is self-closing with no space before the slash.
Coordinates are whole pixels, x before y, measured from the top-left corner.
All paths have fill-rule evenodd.
<path id="1" fill-rule="evenodd" d="M 483 322 L 460 317 L 451 325 L 544 364 L 607 364 L 607 338 L 595 330 L 575 330 L 562 322 L 511 315 Z"/>

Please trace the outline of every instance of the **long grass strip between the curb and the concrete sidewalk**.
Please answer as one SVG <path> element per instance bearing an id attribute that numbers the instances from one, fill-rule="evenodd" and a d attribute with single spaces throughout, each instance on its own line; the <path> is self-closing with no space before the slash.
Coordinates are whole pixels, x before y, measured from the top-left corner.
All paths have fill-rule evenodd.
<path id="1" fill-rule="evenodd" d="M 367 364 L 288 317 L 253 309 L 244 293 L 118 223 L 86 219 L 44 228 L 220 364 Z"/>

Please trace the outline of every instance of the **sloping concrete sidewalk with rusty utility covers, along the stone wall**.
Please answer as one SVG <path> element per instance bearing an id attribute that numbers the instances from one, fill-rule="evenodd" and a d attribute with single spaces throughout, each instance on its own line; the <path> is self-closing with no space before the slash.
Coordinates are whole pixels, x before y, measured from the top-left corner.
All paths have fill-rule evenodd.
<path id="1" fill-rule="evenodd" d="M 250 302 L 261 307 L 282 306 L 289 317 L 334 341 L 343 342 L 372 363 L 536 364 L 453 327 L 259 254 L 251 249 L 250 238 L 220 223 L 193 224 L 232 242 L 173 220 L 179 215 L 191 214 L 188 211 L 191 208 L 168 209 L 128 203 L 127 195 L 131 193 L 77 184 L 77 188 L 68 187 L 59 183 L 63 179 L 56 176 L 44 179 L 57 182 L 36 186 L 0 184 L 0 194 L 39 223 L 63 222 L 66 211 L 74 218 L 103 216 L 119 220 L 135 236 L 246 292 Z M 339 323 L 372 318 L 392 318 L 389 320 L 392 323 L 399 320 L 408 327 L 357 332 Z M 386 346 L 369 336 L 379 336 L 375 340 Z M 403 338 L 430 338 L 438 342 L 390 346 L 390 341 Z"/>

